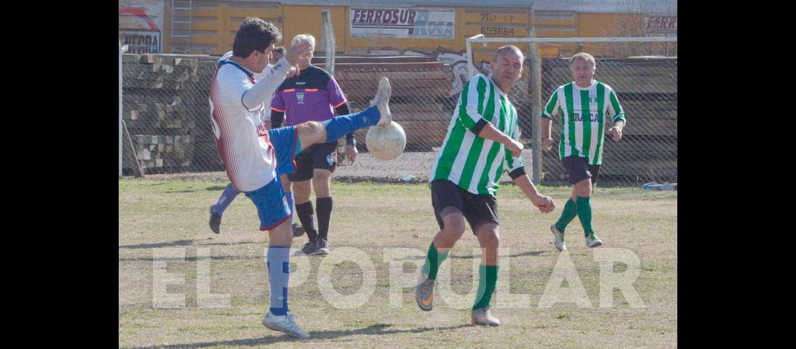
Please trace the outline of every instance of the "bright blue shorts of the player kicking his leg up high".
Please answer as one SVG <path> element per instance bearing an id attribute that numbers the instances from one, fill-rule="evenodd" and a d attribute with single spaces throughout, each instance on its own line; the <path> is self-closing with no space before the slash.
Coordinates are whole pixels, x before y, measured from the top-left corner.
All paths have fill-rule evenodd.
<path id="1" fill-rule="evenodd" d="M 287 196 L 285 196 L 282 179 L 279 176 L 295 172 L 295 155 L 300 146 L 298 133 L 295 132 L 293 126 L 269 130 L 268 137 L 271 138 L 271 145 L 274 146 L 276 153 L 276 177 L 265 184 L 263 188 L 245 192 L 257 207 L 260 231 L 270 231 L 279 227 L 279 224 L 290 219 L 293 213 L 292 207 L 287 204 Z"/>

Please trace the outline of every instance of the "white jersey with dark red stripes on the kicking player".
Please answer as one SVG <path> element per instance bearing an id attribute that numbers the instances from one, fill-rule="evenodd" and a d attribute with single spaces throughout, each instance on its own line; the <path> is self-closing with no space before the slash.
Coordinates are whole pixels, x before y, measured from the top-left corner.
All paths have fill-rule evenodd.
<path id="1" fill-rule="evenodd" d="M 274 85 L 276 91 L 287 72 L 269 65 L 263 74 L 256 75 L 228 60 L 229 56 L 231 53 L 218 61 L 210 82 L 210 120 L 216 149 L 224 160 L 229 180 L 237 190 L 252 192 L 274 180 L 276 156 L 271 143 L 266 137 L 259 137 L 257 131 L 271 105 L 270 98 L 249 109 L 244 106 L 244 94 L 256 83 Z"/>

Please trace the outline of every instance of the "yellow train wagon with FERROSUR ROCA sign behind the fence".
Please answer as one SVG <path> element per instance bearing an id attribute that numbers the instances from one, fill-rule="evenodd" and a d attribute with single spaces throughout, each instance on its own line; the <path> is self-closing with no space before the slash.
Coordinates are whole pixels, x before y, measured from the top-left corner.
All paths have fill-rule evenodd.
<path id="1" fill-rule="evenodd" d="M 654 5 L 657 7 L 637 9 L 605 0 L 586 5 L 509 0 L 501 2 L 501 7 L 471 0 L 120 0 L 119 38 L 140 41 L 131 46 L 149 52 L 220 55 L 232 48 L 236 29 L 244 18 L 256 16 L 283 29 L 284 44 L 288 46 L 291 37 L 298 33 L 313 34 L 319 41 L 316 51 L 320 52 L 321 11 L 326 9 L 330 10 L 338 54 L 439 56 L 440 60 L 452 61 L 464 59 L 466 37 L 479 33 L 486 37 L 528 37 L 532 26 L 537 37 L 676 36 L 677 2 L 667 0 Z M 500 45 L 474 45 L 475 61 L 490 60 Z M 676 45 L 663 46 L 546 44 L 540 45 L 540 52 L 543 58 L 570 56 L 577 51 L 604 57 L 676 52 Z"/>

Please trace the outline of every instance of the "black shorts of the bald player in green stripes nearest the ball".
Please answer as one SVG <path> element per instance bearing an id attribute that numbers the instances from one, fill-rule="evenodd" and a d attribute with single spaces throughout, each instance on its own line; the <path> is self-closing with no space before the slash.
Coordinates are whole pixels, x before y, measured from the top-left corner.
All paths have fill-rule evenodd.
<path id="1" fill-rule="evenodd" d="M 434 207 L 434 216 L 439 223 L 439 229 L 443 229 L 443 218 L 439 215 L 445 207 L 456 207 L 462 211 L 470 229 L 474 235 L 478 235 L 476 228 L 482 223 L 495 223 L 497 221 L 497 199 L 489 194 L 476 195 L 467 192 L 450 180 L 434 180 L 429 184 L 431 187 L 431 206 Z"/>

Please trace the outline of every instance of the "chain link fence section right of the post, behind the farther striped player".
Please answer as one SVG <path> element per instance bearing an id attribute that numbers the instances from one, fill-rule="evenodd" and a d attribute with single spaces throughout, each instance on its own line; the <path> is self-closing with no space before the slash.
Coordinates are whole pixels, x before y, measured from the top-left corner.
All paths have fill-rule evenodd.
<path id="1" fill-rule="evenodd" d="M 595 79 L 616 92 L 627 123 L 622 140 L 603 140 L 603 165 L 599 181 L 616 184 L 677 182 L 677 59 L 647 58 L 597 60 Z M 572 81 L 569 60 L 542 61 L 542 103 L 557 87 Z M 608 130 L 611 120 L 606 120 Z M 552 126 L 552 138 L 560 142 L 561 118 Z M 567 182 L 557 147 L 544 152 L 546 181 Z"/>

